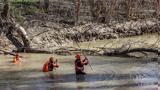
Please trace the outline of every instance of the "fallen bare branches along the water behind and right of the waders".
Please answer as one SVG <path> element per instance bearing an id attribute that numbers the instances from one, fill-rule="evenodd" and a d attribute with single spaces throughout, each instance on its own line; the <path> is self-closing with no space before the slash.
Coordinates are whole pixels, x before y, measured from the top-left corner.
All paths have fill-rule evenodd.
<path id="1" fill-rule="evenodd" d="M 126 49 L 126 50 L 121 50 L 120 48 L 115 49 L 115 48 L 102 48 L 102 47 L 97 47 L 101 50 L 93 50 L 93 49 L 82 49 L 83 52 L 87 55 L 103 55 L 103 56 L 127 56 L 127 57 L 137 57 L 134 53 L 141 53 L 145 56 L 149 56 L 148 54 L 154 53 L 156 55 L 160 55 L 160 50 L 158 49 L 152 49 L 152 48 L 133 48 L 133 49 Z M 103 53 L 101 53 L 103 51 Z M 69 52 L 69 53 L 68 53 Z M 58 55 L 74 55 L 76 53 L 80 53 L 80 50 L 77 48 L 59 48 L 54 51 L 55 54 Z M 71 53 L 71 54 L 70 54 Z M 129 55 L 130 53 L 133 53 L 133 55 Z M 139 55 L 141 56 L 141 55 Z"/>

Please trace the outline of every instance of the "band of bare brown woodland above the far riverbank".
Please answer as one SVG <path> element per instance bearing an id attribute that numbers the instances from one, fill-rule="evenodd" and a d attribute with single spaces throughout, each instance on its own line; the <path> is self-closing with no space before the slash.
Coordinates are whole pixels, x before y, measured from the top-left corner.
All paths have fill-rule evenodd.
<path id="1" fill-rule="evenodd" d="M 14 16 L 47 13 L 58 23 L 110 23 L 159 18 L 160 0 L 9 0 Z M 2 1 L 1 1 L 2 2 Z M 3 4 L 0 4 L 1 10 Z"/>

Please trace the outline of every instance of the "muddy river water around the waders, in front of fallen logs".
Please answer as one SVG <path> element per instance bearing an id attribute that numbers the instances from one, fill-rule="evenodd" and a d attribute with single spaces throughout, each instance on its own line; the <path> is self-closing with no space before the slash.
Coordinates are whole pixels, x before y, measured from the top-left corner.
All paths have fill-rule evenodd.
<path id="1" fill-rule="evenodd" d="M 22 63 L 12 56 L 0 56 L 0 90 L 157 90 L 158 63 L 149 59 L 89 56 L 93 70 L 75 75 L 74 56 L 56 56 L 60 67 L 43 73 L 51 55 L 21 54 Z"/>

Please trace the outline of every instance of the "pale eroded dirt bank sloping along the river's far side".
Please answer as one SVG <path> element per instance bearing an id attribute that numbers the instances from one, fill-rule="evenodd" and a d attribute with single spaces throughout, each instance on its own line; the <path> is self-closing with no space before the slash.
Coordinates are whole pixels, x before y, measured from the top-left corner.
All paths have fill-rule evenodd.
<path id="1" fill-rule="evenodd" d="M 37 32 L 36 32 L 37 31 Z M 143 35 L 145 33 L 159 33 L 157 21 L 131 21 L 112 26 L 89 23 L 72 28 L 32 27 L 27 29 L 31 37 L 32 46 L 40 49 L 54 48 L 78 42 L 125 38 Z M 33 33 L 32 33 L 33 32 Z M 32 34 L 31 34 L 32 33 Z"/>

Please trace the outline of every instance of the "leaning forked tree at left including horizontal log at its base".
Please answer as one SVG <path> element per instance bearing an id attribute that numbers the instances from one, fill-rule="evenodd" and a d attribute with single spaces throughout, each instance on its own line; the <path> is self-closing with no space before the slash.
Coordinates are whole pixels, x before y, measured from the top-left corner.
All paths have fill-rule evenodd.
<path id="1" fill-rule="evenodd" d="M 9 17 L 9 2 L 5 0 L 5 5 L 3 12 L 1 13 L 0 25 L 2 26 L 3 32 L 6 37 L 12 42 L 12 44 L 17 48 L 16 52 L 26 52 L 26 53 L 52 53 L 46 50 L 37 50 L 30 47 L 30 40 L 25 29 L 16 23 L 13 18 Z M 18 38 L 15 35 L 18 35 Z M 22 43 L 23 42 L 23 43 Z M 15 55 L 14 53 L 1 50 L 4 54 Z"/>

